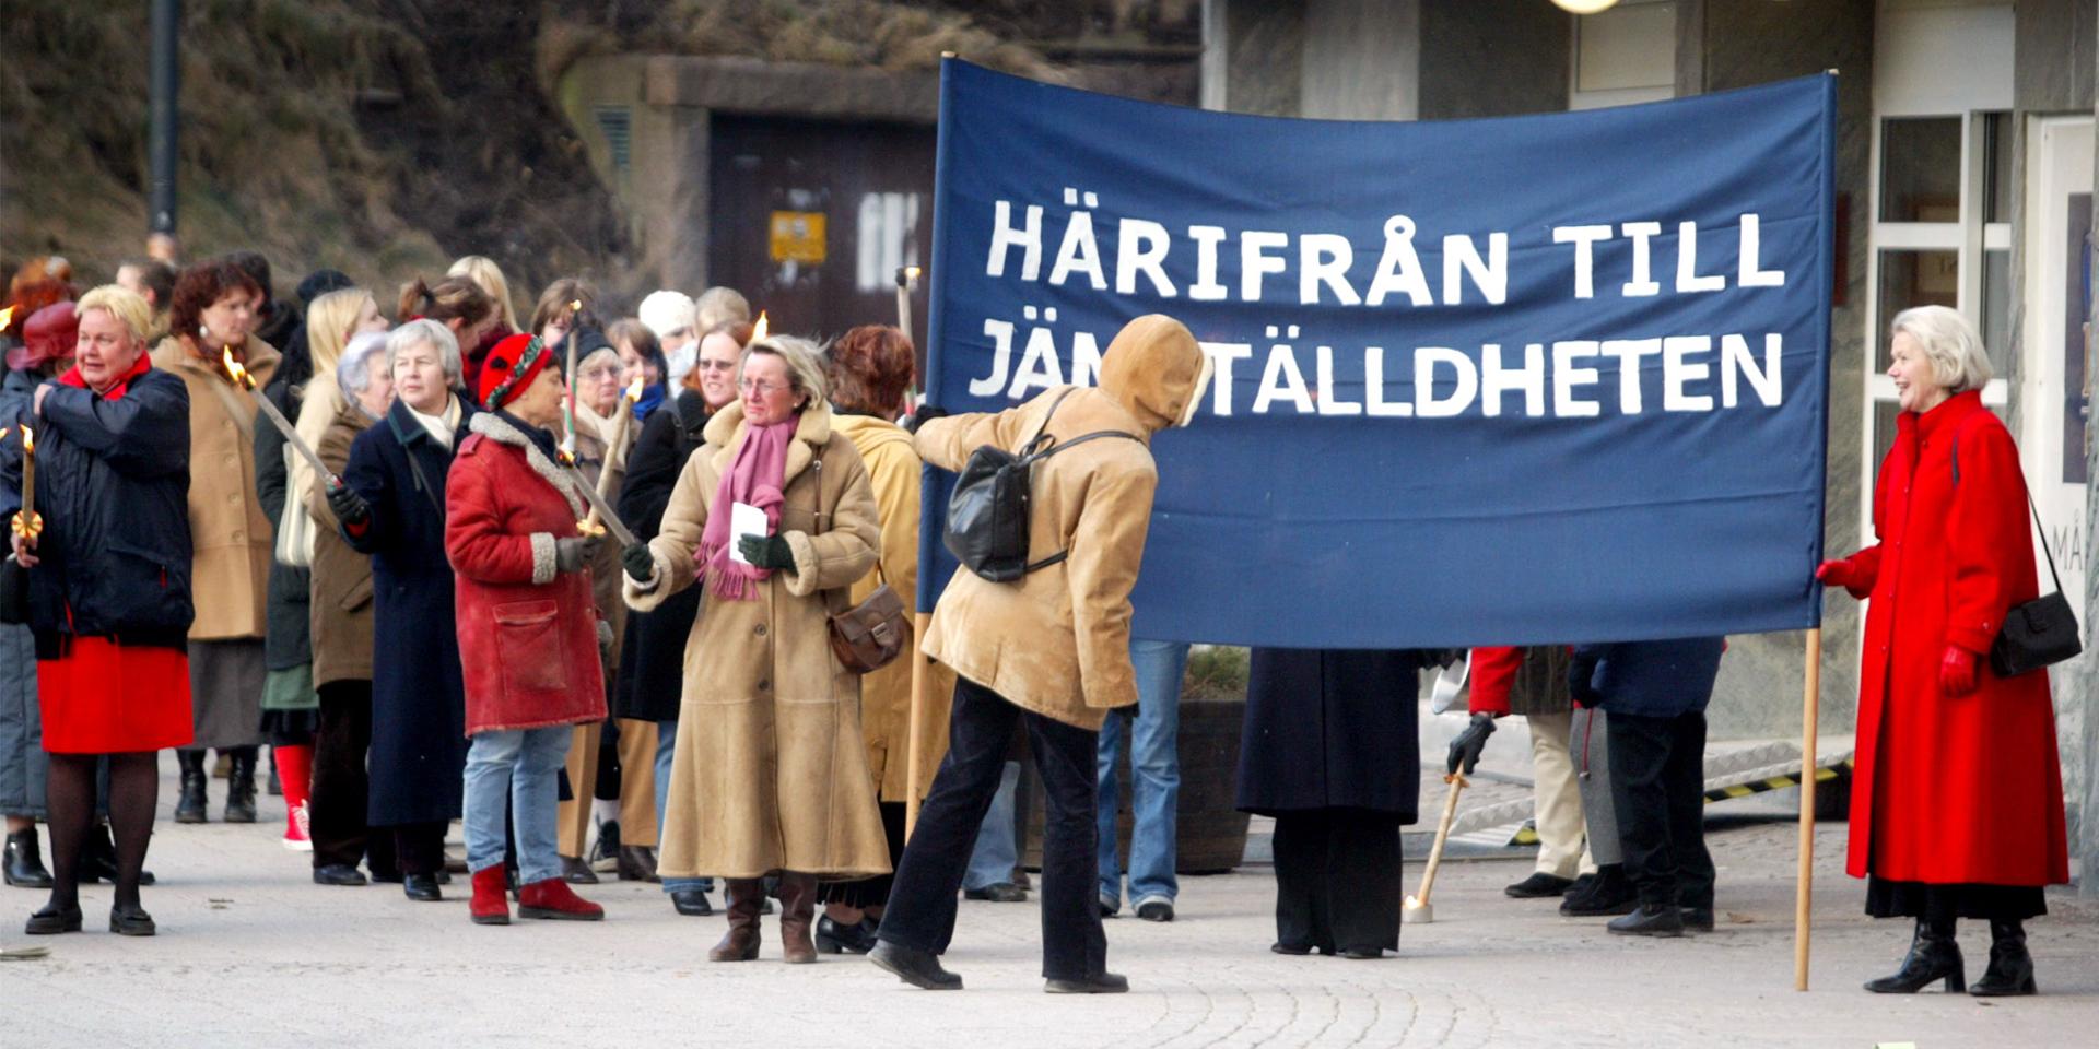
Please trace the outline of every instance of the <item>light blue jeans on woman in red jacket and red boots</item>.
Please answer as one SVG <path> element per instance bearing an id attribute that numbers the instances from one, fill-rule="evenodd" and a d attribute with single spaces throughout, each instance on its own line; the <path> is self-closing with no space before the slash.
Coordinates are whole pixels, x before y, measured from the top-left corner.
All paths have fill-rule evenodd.
<path id="1" fill-rule="evenodd" d="M 558 772 L 569 759 L 571 726 L 476 732 L 466 749 L 466 869 L 504 862 L 504 812 L 518 841 L 518 883 L 560 877 L 554 841 Z"/>

